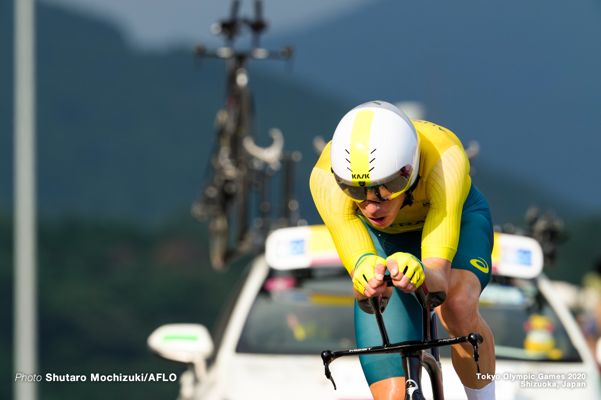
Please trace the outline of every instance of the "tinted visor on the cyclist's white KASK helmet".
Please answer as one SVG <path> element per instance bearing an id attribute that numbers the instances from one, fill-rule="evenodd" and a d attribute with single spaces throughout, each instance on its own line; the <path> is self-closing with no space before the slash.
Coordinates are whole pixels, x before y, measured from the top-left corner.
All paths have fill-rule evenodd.
<path id="1" fill-rule="evenodd" d="M 411 178 L 413 176 L 413 169 L 411 166 L 407 165 L 395 172 L 391 176 L 388 176 L 384 179 L 379 179 L 377 181 L 359 181 L 359 182 L 350 182 L 346 179 L 340 178 L 340 176 L 334 173 L 334 177 L 336 179 L 336 183 L 340 187 L 340 189 L 351 199 L 355 201 L 365 201 L 367 200 L 368 191 L 374 190 L 375 188 L 385 187 L 392 196 L 389 196 L 390 199 L 397 197 L 399 194 L 403 193 L 409 188 Z M 390 200 L 385 199 L 385 200 Z"/>

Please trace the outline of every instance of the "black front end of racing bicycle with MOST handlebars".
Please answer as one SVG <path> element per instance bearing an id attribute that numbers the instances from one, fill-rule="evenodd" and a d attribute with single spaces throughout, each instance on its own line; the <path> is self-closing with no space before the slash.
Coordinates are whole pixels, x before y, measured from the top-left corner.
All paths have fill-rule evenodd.
<path id="1" fill-rule="evenodd" d="M 390 275 L 385 276 L 388 286 L 392 286 L 392 278 Z M 375 347 L 355 348 L 352 350 L 322 351 L 323 365 L 325 366 L 326 378 L 336 384 L 329 369 L 332 361 L 344 356 L 357 356 L 367 354 L 388 354 L 399 353 L 403 357 L 403 372 L 405 376 L 405 400 L 424 400 L 421 390 L 421 368 L 424 366 L 430 376 L 432 384 L 432 393 L 434 400 L 444 400 L 442 391 L 442 373 L 439 360 L 438 347 L 448 346 L 453 344 L 469 343 L 474 347 L 474 360 L 476 362 L 478 372 L 480 365 L 478 364 L 478 347 L 484 341 L 484 338 L 478 333 L 472 332 L 468 336 L 460 336 L 458 338 L 438 339 L 436 332 L 436 311 L 435 307 L 444 302 L 446 294 L 442 291 L 428 292 L 425 285 L 421 285 L 415 291 L 415 297 L 418 299 L 419 305 L 422 308 L 422 333 L 421 341 L 405 341 L 391 344 L 388 339 L 388 333 L 382 319 L 382 311 L 380 310 L 379 297 L 371 297 L 370 305 L 376 314 L 376 321 L 382 336 L 382 345 Z M 433 354 L 427 353 L 427 349 L 434 349 Z"/>

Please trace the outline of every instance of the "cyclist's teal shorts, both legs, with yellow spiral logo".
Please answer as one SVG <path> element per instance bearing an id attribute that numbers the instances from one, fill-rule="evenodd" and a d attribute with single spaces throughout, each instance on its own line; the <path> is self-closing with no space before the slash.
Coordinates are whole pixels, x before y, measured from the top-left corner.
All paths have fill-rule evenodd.
<path id="1" fill-rule="evenodd" d="M 402 251 L 421 260 L 421 231 L 391 234 L 366 226 L 380 257 L 386 258 Z M 472 185 L 463 203 L 459 245 L 451 269 L 466 269 L 474 273 L 480 281 L 480 290 L 484 290 L 490 281 L 492 246 L 490 209 L 483 194 Z M 392 343 L 423 339 L 421 307 L 412 293 L 404 293 L 395 287 L 382 317 Z M 358 348 L 382 345 L 376 317 L 361 311 L 356 302 L 355 335 Z M 359 356 L 359 360 L 370 386 L 377 381 L 404 376 L 400 354 L 372 354 Z"/>

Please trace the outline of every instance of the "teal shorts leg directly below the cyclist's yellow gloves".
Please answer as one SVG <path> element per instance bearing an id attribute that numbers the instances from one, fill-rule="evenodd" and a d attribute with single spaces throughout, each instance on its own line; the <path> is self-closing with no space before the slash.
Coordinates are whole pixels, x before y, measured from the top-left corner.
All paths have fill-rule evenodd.
<path id="1" fill-rule="evenodd" d="M 394 288 L 382 317 L 392 343 L 422 339 L 421 307 L 413 294 Z M 382 345 L 382 336 L 377 327 L 376 316 L 361 311 L 356 302 L 355 336 L 358 348 Z M 365 379 L 370 386 L 383 379 L 404 376 L 400 354 L 372 354 L 359 356 L 359 360 Z"/>

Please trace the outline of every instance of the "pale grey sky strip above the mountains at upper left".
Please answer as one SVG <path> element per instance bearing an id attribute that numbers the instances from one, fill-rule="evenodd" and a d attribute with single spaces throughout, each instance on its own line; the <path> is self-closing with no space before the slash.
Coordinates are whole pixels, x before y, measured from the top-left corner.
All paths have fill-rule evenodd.
<path id="1" fill-rule="evenodd" d="M 50 4 L 108 17 L 124 29 L 135 46 L 162 49 L 211 41 L 210 26 L 230 13 L 228 0 L 43 0 Z M 331 17 L 352 12 L 377 0 L 263 0 L 263 15 L 270 31 L 310 27 Z M 240 14 L 252 16 L 254 1 L 242 0 Z M 219 42 L 221 43 L 221 41 Z"/>

